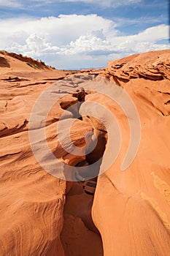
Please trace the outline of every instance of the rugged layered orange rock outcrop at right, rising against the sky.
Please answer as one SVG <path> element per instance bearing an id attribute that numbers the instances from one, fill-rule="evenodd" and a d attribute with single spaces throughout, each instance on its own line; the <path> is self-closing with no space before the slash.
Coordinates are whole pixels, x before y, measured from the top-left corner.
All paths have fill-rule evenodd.
<path id="1" fill-rule="evenodd" d="M 169 50 L 135 54 L 117 61 L 109 61 L 105 75 L 114 76 L 124 82 L 135 78 L 170 79 L 169 59 Z"/>

